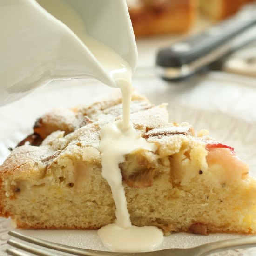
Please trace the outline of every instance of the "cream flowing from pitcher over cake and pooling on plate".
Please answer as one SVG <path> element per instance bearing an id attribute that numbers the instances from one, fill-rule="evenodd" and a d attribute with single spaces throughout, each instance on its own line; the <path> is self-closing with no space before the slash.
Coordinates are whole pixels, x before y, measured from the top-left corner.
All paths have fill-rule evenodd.
<path id="1" fill-rule="evenodd" d="M 43 0 L 39 0 L 40 3 Z M 94 54 L 108 74 L 115 80 L 122 92 L 123 119 L 101 128 L 102 176 L 111 187 L 116 205 L 116 222 L 99 229 L 98 234 L 104 245 L 112 251 L 143 252 L 150 251 L 162 243 L 163 233 L 157 227 L 132 226 L 127 209 L 126 197 L 122 186 L 119 163 L 124 155 L 137 148 L 155 151 L 156 146 L 139 137 L 130 122 L 130 104 L 132 97 L 132 70 L 128 63 L 112 48 L 91 38 L 85 33 L 84 22 L 78 13 L 60 0 L 54 0 L 46 7 L 49 13 L 64 22 Z"/>

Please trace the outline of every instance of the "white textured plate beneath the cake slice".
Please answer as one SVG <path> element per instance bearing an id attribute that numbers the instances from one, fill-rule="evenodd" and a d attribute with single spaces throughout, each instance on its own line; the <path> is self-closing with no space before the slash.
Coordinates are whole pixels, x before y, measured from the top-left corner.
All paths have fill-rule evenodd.
<path id="1" fill-rule="evenodd" d="M 235 79 L 235 80 L 234 80 Z M 240 80 L 239 80 L 240 79 Z M 193 83 L 193 84 L 192 84 Z M 251 166 L 256 177 L 256 87 L 255 80 L 245 81 L 238 76 L 213 73 L 189 82 L 169 84 L 155 76 L 147 79 L 135 75 L 134 85 L 155 103 L 167 102 L 170 121 L 189 121 L 195 130 L 207 128 L 210 135 L 235 147 L 237 154 Z M 8 155 L 8 147 L 31 133 L 37 117 L 54 107 L 72 107 L 88 103 L 111 94 L 97 81 L 57 81 L 40 88 L 20 101 L 0 108 L 0 163 Z M 12 229 L 10 220 L 0 218 L 0 255 L 8 246 L 7 231 Z M 96 231 L 81 230 L 23 230 L 22 232 L 46 240 L 88 249 L 105 248 Z M 217 240 L 243 235 L 173 234 L 165 237 L 158 249 L 192 247 Z M 2 251 L 1 251 L 2 250 Z M 225 251 L 212 255 L 256 255 L 256 248 Z"/>

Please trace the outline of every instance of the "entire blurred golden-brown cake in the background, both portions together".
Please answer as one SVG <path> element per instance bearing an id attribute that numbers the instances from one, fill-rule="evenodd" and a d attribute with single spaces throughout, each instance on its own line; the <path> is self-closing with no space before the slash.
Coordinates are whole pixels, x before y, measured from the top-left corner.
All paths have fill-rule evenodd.
<path id="1" fill-rule="evenodd" d="M 255 0 L 126 0 L 136 37 L 186 33 L 197 14 L 223 20 Z M 200 15 L 199 15 L 200 16 Z M 203 22 L 203 21 L 202 21 Z"/>

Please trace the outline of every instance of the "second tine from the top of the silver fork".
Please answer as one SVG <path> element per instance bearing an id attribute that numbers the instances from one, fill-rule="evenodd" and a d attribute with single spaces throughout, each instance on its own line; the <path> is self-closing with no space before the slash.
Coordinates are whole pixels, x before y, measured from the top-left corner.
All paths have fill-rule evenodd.
<path id="1" fill-rule="evenodd" d="M 18 249 L 22 249 L 24 251 L 27 251 L 27 252 L 30 252 L 30 253 L 34 253 L 35 255 L 39 255 L 39 256 L 61 256 L 61 254 L 53 253 L 53 252 L 50 252 L 50 251 L 47 251 L 47 250 L 44 250 L 44 249 L 41 249 L 41 248 L 35 248 L 35 247 L 32 247 L 31 245 L 27 245 L 25 243 L 21 243 L 19 241 L 15 241 L 13 239 L 9 239 L 7 241 L 7 243 L 9 245 L 12 245 L 12 246 L 18 248 Z M 15 251 L 14 249 L 7 249 L 7 251 L 8 250 L 9 251 L 11 250 L 11 252 Z M 16 255 L 17 255 L 17 252 L 19 252 L 19 251 L 16 250 L 16 252 L 15 252 Z M 24 253 L 23 253 L 23 255 L 24 255 Z"/>

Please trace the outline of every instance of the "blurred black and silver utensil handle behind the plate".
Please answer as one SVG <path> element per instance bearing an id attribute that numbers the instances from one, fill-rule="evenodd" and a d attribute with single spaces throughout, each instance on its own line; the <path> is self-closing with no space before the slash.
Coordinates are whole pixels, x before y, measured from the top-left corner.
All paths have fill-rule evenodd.
<path id="1" fill-rule="evenodd" d="M 161 49 L 156 58 L 157 66 L 169 71 L 162 76 L 166 79 L 185 77 L 234 50 L 231 41 L 256 24 L 256 4 L 248 5 L 231 18 L 207 28 L 201 34 L 174 43 Z M 175 72 L 176 71 L 176 72 Z"/>

